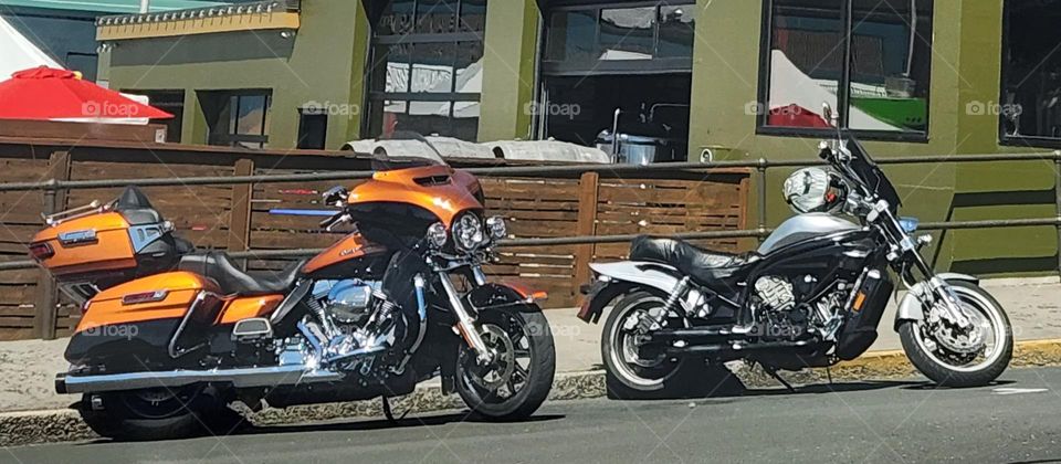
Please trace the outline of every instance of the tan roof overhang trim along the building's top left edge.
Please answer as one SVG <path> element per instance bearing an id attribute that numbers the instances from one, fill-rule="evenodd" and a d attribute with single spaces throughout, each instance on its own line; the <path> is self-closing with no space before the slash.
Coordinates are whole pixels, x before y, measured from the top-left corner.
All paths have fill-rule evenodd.
<path id="1" fill-rule="evenodd" d="M 266 0 L 96 20 L 96 40 L 167 38 L 220 32 L 298 29 L 298 0 Z"/>

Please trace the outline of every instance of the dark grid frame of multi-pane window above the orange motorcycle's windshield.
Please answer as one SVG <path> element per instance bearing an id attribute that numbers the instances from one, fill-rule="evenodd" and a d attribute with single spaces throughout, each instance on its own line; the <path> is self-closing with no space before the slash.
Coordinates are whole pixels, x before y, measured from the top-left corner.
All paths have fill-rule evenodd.
<path id="1" fill-rule="evenodd" d="M 387 0 L 387 1 L 390 1 L 390 0 Z M 410 107 L 412 106 L 412 105 L 411 105 L 412 103 L 422 103 L 422 102 L 429 102 L 429 103 L 449 103 L 449 104 L 450 104 L 450 108 L 449 108 L 449 115 L 448 115 L 447 117 L 449 118 L 449 120 L 450 120 L 450 126 L 452 127 L 452 126 L 453 126 L 453 120 L 456 119 L 456 118 L 454 117 L 454 115 L 453 115 L 453 112 L 454 112 L 454 108 L 456 107 L 456 104 L 458 104 L 458 103 L 463 103 L 463 102 L 476 102 L 476 103 L 479 103 L 479 102 L 482 102 L 482 93 L 481 93 L 481 92 L 477 92 L 477 93 L 461 93 L 461 92 L 454 92 L 454 91 L 453 91 L 453 89 L 454 89 L 454 86 L 456 85 L 456 72 L 458 72 L 458 68 L 456 68 L 456 65 L 455 65 L 456 57 L 458 57 L 456 54 L 454 54 L 453 56 L 451 56 L 451 57 L 453 59 L 454 65 L 453 65 L 453 76 L 452 76 L 452 78 L 451 78 L 451 91 L 450 91 L 450 92 L 411 92 L 411 91 L 409 91 L 409 89 L 407 89 L 407 92 L 386 92 L 386 91 L 376 91 L 376 89 L 374 89 L 374 86 L 376 85 L 376 83 L 375 83 L 374 80 L 372 80 L 372 75 L 371 75 L 371 74 L 372 74 L 372 70 L 370 68 L 370 66 L 372 66 L 372 64 L 376 63 L 376 61 L 377 61 L 377 50 L 380 48 L 380 45 L 397 45 L 397 44 L 401 44 L 401 45 L 408 45 L 408 46 L 411 48 L 411 46 L 414 46 L 414 45 L 417 45 L 417 44 L 448 43 L 448 44 L 454 45 L 454 48 L 455 48 L 455 46 L 458 46 L 458 45 L 459 45 L 460 43 L 462 43 L 462 42 L 480 42 L 480 43 L 483 44 L 483 50 L 484 50 L 484 55 L 485 55 L 485 46 L 486 46 L 486 31 L 485 31 L 486 25 L 485 25 L 485 23 L 483 24 L 483 31 L 462 31 L 462 30 L 461 30 L 461 27 L 460 27 L 461 23 L 460 23 L 460 21 L 461 21 L 462 14 L 463 14 L 463 12 L 464 12 L 465 1 L 468 1 L 468 0 L 458 0 L 458 1 L 456 1 L 456 11 L 454 12 L 454 14 L 455 14 L 456 18 L 458 18 L 458 24 L 456 24 L 456 30 L 453 31 L 453 32 L 440 32 L 440 33 L 409 32 L 409 33 L 406 33 L 406 34 L 398 34 L 398 33 L 396 33 L 396 34 L 379 34 L 379 32 L 378 32 L 378 27 L 379 27 L 378 22 L 379 22 L 380 19 L 379 19 L 379 18 L 370 18 L 370 24 L 369 24 L 369 27 L 370 27 L 370 29 L 371 29 L 371 33 L 369 34 L 369 40 L 368 40 L 368 59 L 367 59 L 367 61 L 366 61 L 366 67 L 365 67 L 365 74 L 364 74 L 364 75 L 365 75 L 364 82 L 366 83 L 366 85 L 365 85 L 364 98 L 363 98 L 363 107 L 364 107 L 364 108 L 375 108 L 376 105 L 385 105 L 385 103 L 388 102 L 388 101 L 390 101 L 390 102 L 403 102 L 405 105 L 406 105 L 405 114 L 408 115 L 408 114 L 409 114 L 409 109 L 410 109 Z M 418 20 L 417 14 L 418 14 L 418 12 L 419 12 L 419 10 L 420 10 L 420 2 L 421 2 L 421 0 L 413 0 L 413 2 L 412 2 L 412 11 L 413 11 L 413 19 L 412 19 L 412 21 L 413 21 L 413 23 L 416 23 L 417 20 Z M 490 7 L 489 7 L 489 6 L 490 6 L 490 2 L 485 2 L 484 4 L 486 6 L 487 9 L 490 8 Z M 386 7 L 386 2 L 381 2 L 381 3 L 379 4 L 379 8 L 382 8 L 382 7 Z M 381 13 L 382 13 L 382 10 L 380 10 L 379 13 L 381 14 Z M 411 56 L 411 55 L 410 55 L 410 60 L 412 60 L 412 56 Z M 412 78 L 412 75 L 411 75 L 412 68 L 411 68 L 411 67 L 410 67 L 409 72 L 410 72 L 409 78 L 411 80 L 411 78 Z M 386 77 L 384 77 L 384 78 L 386 78 Z M 385 83 L 384 85 L 385 85 L 385 88 L 386 88 L 386 83 Z M 372 116 L 374 116 L 374 114 L 375 114 L 376 112 L 372 110 L 372 109 L 369 109 L 369 110 L 366 110 L 366 112 L 363 112 L 363 113 L 364 113 L 364 116 L 361 117 L 361 120 L 360 120 L 360 130 L 361 130 L 361 134 L 371 135 L 371 136 L 379 136 L 379 134 L 374 134 L 374 133 L 375 133 L 375 130 L 374 130 L 375 123 L 371 120 L 371 119 L 372 119 Z M 480 117 L 481 117 L 481 116 L 480 116 Z"/>

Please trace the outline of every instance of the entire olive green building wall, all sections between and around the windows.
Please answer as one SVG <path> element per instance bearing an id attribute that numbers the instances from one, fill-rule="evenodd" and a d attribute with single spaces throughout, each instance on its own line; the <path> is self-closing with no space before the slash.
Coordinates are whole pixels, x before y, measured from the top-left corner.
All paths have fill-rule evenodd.
<path id="1" fill-rule="evenodd" d="M 1015 152 L 998 143 L 998 118 L 970 104 L 999 99 L 1001 1 L 936 0 L 927 141 L 866 143 L 879 158 L 916 155 Z M 114 88 L 274 88 L 270 145 L 294 146 L 297 108 L 307 102 L 364 101 L 369 27 L 361 1 L 304 0 L 294 41 L 277 31 L 124 41 L 102 56 Z M 697 0 L 691 95 L 690 158 L 710 148 L 716 159 L 809 159 L 817 138 L 756 134 L 748 112 L 759 95 L 763 2 Z M 480 140 L 528 138 L 535 93 L 539 12 L 535 0 L 492 1 L 487 10 Z M 209 50 L 210 53 L 203 53 Z M 209 59 L 207 59 L 209 56 Z M 193 92 L 186 95 L 185 143 L 203 143 L 206 128 Z M 328 148 L 357 138 L 360 115 L 333 115 Z M 923 221 L 1042 218 L 1053 188 L 1047 162 L 889 166 L 904 198 L 903 213 Z M 790 215 L 778 191 L 791 172 L 767 176 L 767 225 Z M 1034 204 L 1030 204 L 1034 203 Z M 757 204 L 753 192 L 752 204 Z M 754 208 L 753 208 L 754 211 Z M 753 222 L 754 223 L 754 222 Z M 941 234 L 935 234 L 941 239 Z M 1041 272 L 1055 266 L 1053 228 L 949 232 L 937 240 L 937 267 L 978 274 Z M 931 251 L 936 254 L 936 250 Z M 1052 263 L 1052 264 L 1051 264 Z"/>

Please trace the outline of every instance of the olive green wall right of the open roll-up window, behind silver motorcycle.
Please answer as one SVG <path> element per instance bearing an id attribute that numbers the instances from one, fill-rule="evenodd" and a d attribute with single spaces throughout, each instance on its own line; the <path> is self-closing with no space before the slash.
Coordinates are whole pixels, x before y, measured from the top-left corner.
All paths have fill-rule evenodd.
<path id="1" fill-rule="evenodd" d="M 1001 2 L 937 0 L 934 4 L 929 138 L 927 143 L 864 145 L 878 158 L 1019 151 L 999 146 L 997 116 L 966 110 L 970 103 L 999 99 Z M 758 97 L 763 2 L 698 0 L 697 6 L 702 11 L 696 24 L 700 39 L 694 45 L 690 158 L 700 159 L 705 148 L 712 149 L 716 159 L 813 158 L 818 138 L 757 135 L 756 116 L 746 109 Z M 1052 189 L 1053 170 L 1047 164 L 924 164 L 885 169 L 904 199 L 902 213 L 922 221 L 1054 214 L 1051 204 L 1022 204 L 1021 196 L 1013 194 Z M 778 194 L 790 172 L 768 171 L 767 225 L 791 214 Z M 1001 204 L 979 205 L 985 203 Z M 990 274 L 1002 267 L 1034 271 L 1057 266 L 1052 257 L 1058 252 L 1057 233 L 1049 226 L 949 232 L 939 246 L 939 268 Z M 1005 266 L 999 266 L 1002 262 Z"/>

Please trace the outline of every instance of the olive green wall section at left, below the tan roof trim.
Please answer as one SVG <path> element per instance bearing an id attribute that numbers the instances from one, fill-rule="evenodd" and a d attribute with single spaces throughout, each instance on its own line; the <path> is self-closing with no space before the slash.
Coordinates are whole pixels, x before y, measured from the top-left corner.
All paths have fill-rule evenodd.
<path id="1" fill-rule="evenodd" d="M 101 56 L 101 78 L 123 91 L 185 89 L 180 141 L 203 144 L 198 91 L 271 88 L 269 144 L 293 148 L 298 108 L 327 104 L 327 148 L 357 138 L 368 21 L 359 1 L 302 2 L 295 38 L 279 30 L 117 42 Z"/>

